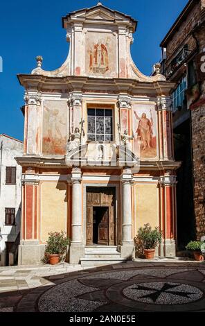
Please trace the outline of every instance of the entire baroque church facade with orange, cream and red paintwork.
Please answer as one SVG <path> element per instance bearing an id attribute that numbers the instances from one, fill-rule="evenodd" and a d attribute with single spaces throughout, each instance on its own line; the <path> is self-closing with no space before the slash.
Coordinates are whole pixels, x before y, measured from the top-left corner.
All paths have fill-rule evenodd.
<path id="1" fill-rule="evenodd" d="M 176 250 L 170 91 L 130 54 L 137 22 L 101 3 L 62 18 L 69 55 L 59 69 L 19 74 L 25 89 L 19 264 L 64 230 L 69 262 L 123 261 L 140 226 L 159 226 L 157 255 Z M 32 255 L 30 254 L 32 252 Z"/>

